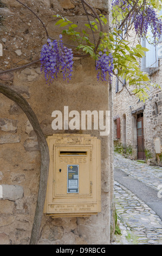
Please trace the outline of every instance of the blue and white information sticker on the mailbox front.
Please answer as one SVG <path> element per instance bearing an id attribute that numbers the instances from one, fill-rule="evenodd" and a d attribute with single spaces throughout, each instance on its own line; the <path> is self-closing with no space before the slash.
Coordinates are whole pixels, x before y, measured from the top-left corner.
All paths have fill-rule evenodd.
<path id="1" fill-rule="evenodd" d="M 79 193 L 79 164 L 67 165 L 67 193 Z"/>

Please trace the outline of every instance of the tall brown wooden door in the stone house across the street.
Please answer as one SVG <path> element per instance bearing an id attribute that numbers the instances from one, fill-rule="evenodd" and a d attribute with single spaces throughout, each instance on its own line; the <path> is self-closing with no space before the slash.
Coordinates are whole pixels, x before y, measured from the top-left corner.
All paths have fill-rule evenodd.
<path id="1" fill-rule="evenodd" d="M 144 148 L 144 123 L 143 117 L 137 118 L 137 145 L 138 145 L 138 159 L 144 160 L 145 148 Z"/>

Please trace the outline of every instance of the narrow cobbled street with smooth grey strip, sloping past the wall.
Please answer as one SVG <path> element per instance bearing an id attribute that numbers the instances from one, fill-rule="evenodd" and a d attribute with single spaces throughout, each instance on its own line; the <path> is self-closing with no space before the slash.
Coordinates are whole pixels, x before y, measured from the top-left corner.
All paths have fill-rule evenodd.
<path id="1" fill-rule="evenodd" d="M 114 153 L 114 200 L 121 235 L 117 244 L 162 244 L 162 167 Z"/>

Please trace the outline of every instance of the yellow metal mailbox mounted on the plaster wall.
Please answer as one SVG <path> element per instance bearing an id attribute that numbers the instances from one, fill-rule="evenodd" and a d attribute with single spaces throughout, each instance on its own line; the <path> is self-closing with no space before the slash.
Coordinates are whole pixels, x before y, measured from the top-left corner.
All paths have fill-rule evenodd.
<path id="1" fill-rule="evenodd" d="M 47 138 L 50 165 L 44 213 L 79 217 L 101 211 L 101 144 L 90 135 Z"/>

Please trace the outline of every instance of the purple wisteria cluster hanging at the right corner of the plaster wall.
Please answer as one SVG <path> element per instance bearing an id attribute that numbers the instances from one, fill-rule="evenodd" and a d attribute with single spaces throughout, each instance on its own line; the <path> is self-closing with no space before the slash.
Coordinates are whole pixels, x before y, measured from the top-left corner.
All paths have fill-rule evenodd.
<path id="1" fill-rule="evenodd" d="M 103 52 L 99 52 L 99 59 L 96 61 L 96 70 L 99 70 L 97 78 L 98 81 L 108 81 L 111 82 L 111 77 L 113 74 L 114 64 L 112 53 L 106 54 L 106 49 Z"/>

